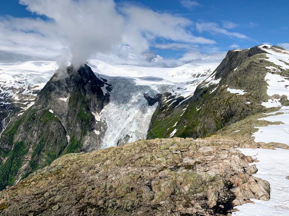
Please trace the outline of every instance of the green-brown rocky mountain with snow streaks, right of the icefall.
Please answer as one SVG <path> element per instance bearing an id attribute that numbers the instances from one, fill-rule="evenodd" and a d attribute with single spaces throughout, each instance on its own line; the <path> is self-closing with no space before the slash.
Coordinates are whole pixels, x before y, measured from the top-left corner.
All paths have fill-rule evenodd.
<path id="1" fill-rule="evenodd" d="M 266 111 L 263 102 L 272 98 L 267 94 L 266 77 L 268 73 L 289 77 L 288 54 L 284 48 L 264 45 L 230 50 L 214 73 L 198 85 L 193 97 L 180 106 L 168 107 L 167 101 L 162 101 L 153 115 L 148 138 L 205 137 Z M 287 95 L 281 96 L 273 98 L 287 104 Z"/>

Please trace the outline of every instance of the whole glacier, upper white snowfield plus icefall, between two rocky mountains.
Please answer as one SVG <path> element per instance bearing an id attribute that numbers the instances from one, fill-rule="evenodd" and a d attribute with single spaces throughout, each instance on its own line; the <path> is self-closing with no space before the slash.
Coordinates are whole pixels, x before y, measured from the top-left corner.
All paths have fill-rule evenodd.
<path id="1" fill-rule="evenodd" d="M 102 148 L 107 148 L 147 137 L 158 102 L 149 106 L 144 94 L 153 98 L 156 94 L 170 92 L 176 96 L 174 99 L 183 96 L 185 101 L 218 65 L 150 68 L 89 60 L 88 66 L 112 85 L 110 102 L 100 113 L 100 120 L 106 125 Z"/>

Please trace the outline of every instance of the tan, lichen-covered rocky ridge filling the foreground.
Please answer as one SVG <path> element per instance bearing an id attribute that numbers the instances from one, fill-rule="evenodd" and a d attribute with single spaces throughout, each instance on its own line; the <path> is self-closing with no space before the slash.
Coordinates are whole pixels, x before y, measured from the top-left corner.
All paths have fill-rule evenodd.
<path id="1" fill-rule="evenodd" d="M 66 154 L 0 192 L 0 215 L 231 215 L 251 198 L 270 199 L 252 176 L 246 138 L 138 140 Z"/>

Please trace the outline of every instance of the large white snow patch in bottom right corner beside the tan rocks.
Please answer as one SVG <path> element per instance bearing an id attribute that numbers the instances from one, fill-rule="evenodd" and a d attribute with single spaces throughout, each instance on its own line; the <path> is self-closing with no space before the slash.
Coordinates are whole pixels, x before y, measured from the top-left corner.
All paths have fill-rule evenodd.
<path id="1" fill-rule="evenodd" d="M 276 137 L 276 135 L 274 135 Z M 271 216 L 289 215 L 289 150 L 287 149 L 239 149 L 242 154 L 257 158 L 257 173 L 253 176 L 267 180 L 270 183 L 271 198 L 269 201 L 251 199 L 255 202 L 236 206 L 239 210 L 234 212 L 236 216 Z M 251 164 L 250 164 L 251 165 Z"/>

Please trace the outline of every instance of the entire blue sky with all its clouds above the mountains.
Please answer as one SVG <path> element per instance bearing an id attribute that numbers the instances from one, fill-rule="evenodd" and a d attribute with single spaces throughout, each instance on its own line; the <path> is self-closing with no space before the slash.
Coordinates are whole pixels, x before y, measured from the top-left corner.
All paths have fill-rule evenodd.
<path id="1" fill-rule="evenodd" d="M 288 8 L 285 0 L 3 1 L 0 50 L 160 67 L 221 61 L 262 43 L 288 49 Z"/>

